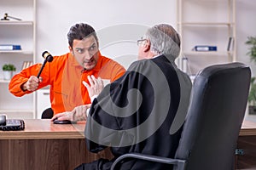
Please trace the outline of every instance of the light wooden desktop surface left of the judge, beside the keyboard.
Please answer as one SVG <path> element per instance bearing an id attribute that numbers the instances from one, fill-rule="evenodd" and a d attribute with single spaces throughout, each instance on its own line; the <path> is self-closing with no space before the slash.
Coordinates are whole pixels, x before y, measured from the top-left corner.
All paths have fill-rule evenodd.
<path id="1" fill-rule="evenodd" d="M 84 139 L 85 122 L 54 124 L 49 119 L 26 119 L 23 131 L 0 131 L 0 139 Z"/>

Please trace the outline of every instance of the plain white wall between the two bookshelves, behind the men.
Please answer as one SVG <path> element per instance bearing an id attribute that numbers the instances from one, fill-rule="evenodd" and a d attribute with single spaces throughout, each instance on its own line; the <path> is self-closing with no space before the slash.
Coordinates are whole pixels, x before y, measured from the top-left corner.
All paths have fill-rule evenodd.
<path id="1" fill-rule="evenodd" d="M 42 62 L 41 54 L 44 50 L 54 55 L 68 52 L 67 32 L 71 26 L 79 22 L 90 24 L 96 31 L 106 31 L 111 27 L 109 35 L 106 33 L 103 35 L 104 40 L 113 37 L 113 31 L 117 30 L 116 26 L 123 24 L 153 26 L 158 23 L 168 23 L 176 26 L 176 1 L 38 0 L 37 22 L 37 61 Z M 143 36 L 142 29 L 125 31 L 127 36 L 133 35 L 133 39 L 114 43 L 108 39 L 108 44 L 102 47 L 104 40 L 100 37 L 102 54 L 109 58 L 124 60 L 122 64 L 136 59 L 135 41 Z"/>

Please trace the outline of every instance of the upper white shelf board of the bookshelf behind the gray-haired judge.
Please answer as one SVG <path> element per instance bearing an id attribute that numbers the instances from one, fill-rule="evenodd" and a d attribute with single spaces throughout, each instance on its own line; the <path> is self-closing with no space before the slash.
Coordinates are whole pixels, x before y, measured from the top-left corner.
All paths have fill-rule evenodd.
<path id="1" fill-rule="evenodd" d="M 178 22 L 178 26 L 235 26 L 233 22 Z"/>

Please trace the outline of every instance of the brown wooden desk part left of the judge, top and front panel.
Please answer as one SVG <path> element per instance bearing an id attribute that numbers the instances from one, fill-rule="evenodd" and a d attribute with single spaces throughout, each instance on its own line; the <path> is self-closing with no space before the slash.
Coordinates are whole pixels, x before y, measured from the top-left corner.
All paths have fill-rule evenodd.
<path id="1" fill-rule="evenodd" d="M 57 125 L 49 120 L 25 120 L 24 131 L 0 131 L 0 169 L 70 170 L 83 162 L 111 157 L 109 150 L 86 149 L 84 122 Z"/>

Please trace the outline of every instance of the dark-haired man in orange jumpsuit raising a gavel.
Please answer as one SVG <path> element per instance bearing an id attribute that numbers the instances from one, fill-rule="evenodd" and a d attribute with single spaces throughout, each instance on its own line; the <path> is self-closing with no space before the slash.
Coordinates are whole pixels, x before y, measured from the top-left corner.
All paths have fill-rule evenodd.
<path id="1" fill-rule="evenodd" d="M 125 73 L 122 65 L 102 56 L 96 31 L 91 26 L 84 23 L 72 26 L 67 39 L 69 53 L 54 56 L 39 78 L 37 74 L 42 64 L 20 71 L 9 82 L 9 92 L 20 97 L 50 85 L 51 108 L 57 114 L 90 104 L 88 91 L 82 85 L 83 81 L 88 82 L 88 76 L 113 82 Z"/>

